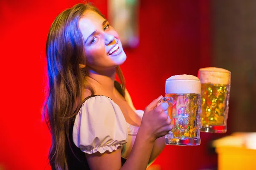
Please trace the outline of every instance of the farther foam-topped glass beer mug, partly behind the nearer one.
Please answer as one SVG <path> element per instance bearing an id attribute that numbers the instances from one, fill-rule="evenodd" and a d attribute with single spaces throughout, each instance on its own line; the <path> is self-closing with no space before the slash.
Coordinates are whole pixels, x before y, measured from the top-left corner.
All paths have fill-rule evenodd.
<path id="1" fill-rule="evenodd" d="M 201 68 L 201 131 L 226 133 L 231 72 L 223 68 Z"/>

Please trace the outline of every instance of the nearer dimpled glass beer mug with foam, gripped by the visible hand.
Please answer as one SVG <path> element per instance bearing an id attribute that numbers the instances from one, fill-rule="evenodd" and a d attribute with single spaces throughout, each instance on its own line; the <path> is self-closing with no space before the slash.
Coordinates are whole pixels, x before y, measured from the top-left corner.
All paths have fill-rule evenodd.
<path id="1" fill-rule="evenodd" d="M 168 114 L 173 128 L 165 136 L 165 144 L 199 145 L 200 139 L 200 80 L 192 75 L 176 75 L 166 80 L 165 96 L 158 104 L 169 104 Z"/>

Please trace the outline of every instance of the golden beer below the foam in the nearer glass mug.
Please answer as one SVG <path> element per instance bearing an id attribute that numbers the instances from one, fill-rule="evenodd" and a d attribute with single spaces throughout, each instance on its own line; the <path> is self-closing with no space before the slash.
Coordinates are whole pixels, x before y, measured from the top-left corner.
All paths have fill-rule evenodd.
<path id="1" fill-rule="evenodd" d="M 200 94 L 166 94 L 172 97 L 173 104 L 168 113 L 173 129 L 166 136 L 167 144 L 200 144 Z"/>

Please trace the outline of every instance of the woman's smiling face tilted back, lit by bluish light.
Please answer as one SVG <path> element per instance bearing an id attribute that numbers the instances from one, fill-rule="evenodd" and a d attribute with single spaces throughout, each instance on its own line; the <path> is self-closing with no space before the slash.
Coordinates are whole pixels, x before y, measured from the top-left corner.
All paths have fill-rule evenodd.
<path id="1" fill-rule="evenodd" d="M 116 68 L 125 62 L 126 54 L 116 30 L 94 11 L 87 11 L 79 20 L 84 38 L 86 66 L 94 71 Z"/>

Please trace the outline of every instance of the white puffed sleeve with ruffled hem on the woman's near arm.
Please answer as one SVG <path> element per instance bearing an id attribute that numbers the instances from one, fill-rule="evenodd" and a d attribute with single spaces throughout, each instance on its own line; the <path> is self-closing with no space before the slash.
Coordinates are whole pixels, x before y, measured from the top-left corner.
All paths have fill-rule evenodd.
<path id="1" fill-rule="evenodd" d="M 128 130 L 119 106 L 106 96 L 87 99 L 76 115 L 73 142 L 88 154 L 112 152 L 128 142 Z"/>

